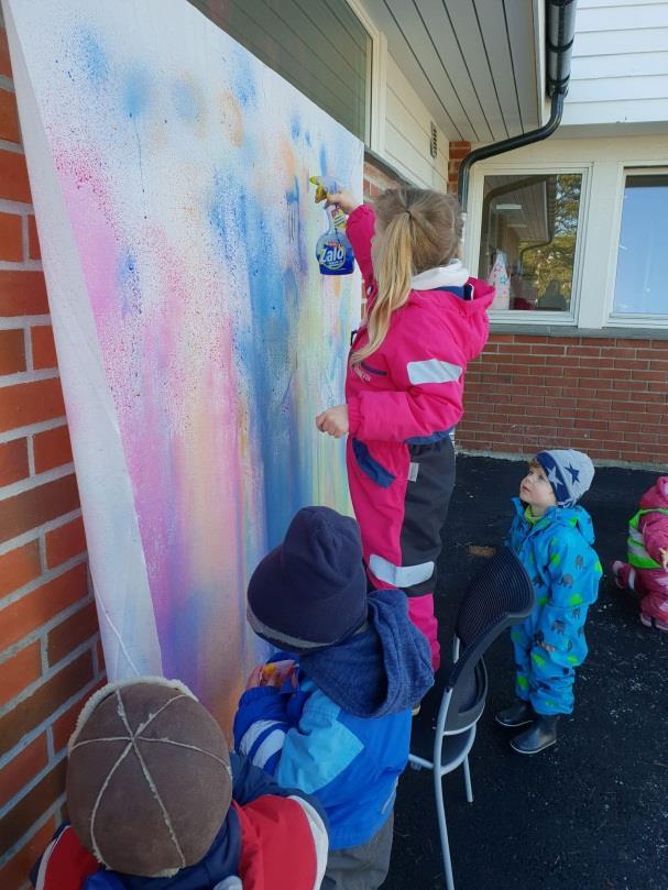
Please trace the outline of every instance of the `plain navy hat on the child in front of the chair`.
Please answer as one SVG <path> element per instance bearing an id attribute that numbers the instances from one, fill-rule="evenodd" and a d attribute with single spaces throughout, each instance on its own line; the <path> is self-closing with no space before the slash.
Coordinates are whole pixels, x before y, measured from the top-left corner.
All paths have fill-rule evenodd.
<path id="1" fill-rule="evenodd" d="M 366 619 L 366 573 L 354 519 L 304 507 L 249 583 L 248 619 L 280 649 L 332 646 Z"/>

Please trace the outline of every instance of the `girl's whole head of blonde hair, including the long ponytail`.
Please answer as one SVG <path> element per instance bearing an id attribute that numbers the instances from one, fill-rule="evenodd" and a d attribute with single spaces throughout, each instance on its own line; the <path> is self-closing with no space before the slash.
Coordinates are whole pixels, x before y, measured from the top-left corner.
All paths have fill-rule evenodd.
<path id="1" fill-rule="evenodd" d="M 447 265 L 458 253 L 463 217 L 457 198 L 421 188 L 391 188 L 375 201 L 376 234 L 383 234 L 377 294 L 369 315 L 369 342 L 351 355 L 359 364 L 385 340 L 392 314 L 408 299 L 410 279 Z"/>

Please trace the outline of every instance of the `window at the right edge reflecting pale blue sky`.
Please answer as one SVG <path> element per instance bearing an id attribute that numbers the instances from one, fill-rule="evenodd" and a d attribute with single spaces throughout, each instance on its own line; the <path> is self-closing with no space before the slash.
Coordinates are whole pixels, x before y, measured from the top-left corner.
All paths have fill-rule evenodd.
<path id="1" fill-rule="evenodd" d="M 668 173 L 628 173 L 624 185 L 613 316 L 668 316 Z"/>

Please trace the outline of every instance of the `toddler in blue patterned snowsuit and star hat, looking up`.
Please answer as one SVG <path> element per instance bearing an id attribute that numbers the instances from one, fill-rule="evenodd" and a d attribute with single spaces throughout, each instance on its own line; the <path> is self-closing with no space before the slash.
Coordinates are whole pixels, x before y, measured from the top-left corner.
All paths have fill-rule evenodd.
<path id="1" fill-rule="evenodd" d="M 508 728 L 530 724 L 511 741 L 519 754 L 554 745 L 559 715 L 573 710 L 574 669 L 587 657 L 587 611 L 602 574 L 591 517 L 577 506 L 593 475 L 581 451 L 540 451 L 513 498 L 507 543 L 529 573 L 536 606 L 511 631 L 517 700 L 496 722 Z"/>

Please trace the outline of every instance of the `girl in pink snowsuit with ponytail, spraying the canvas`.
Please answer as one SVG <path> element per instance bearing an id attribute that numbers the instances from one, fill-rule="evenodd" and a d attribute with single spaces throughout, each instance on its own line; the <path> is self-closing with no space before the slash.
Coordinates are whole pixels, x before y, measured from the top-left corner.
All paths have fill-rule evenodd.
<path id="1" fill-rule="evenodd" d="M 467 364 L 488 340 L 494 289 L 456 259 L 462 216 L 453 196 L 390 189 L 375 212 L 347 193 L 329 200 L 350 215 L 368 311 L 352 341 L 346 405 L 316 424 L 337 438 L 349 433 L 348 482 L 370 581 L 405 591 L 436 669 L 434 589 L 455 484 L 452 432 Z"/>

